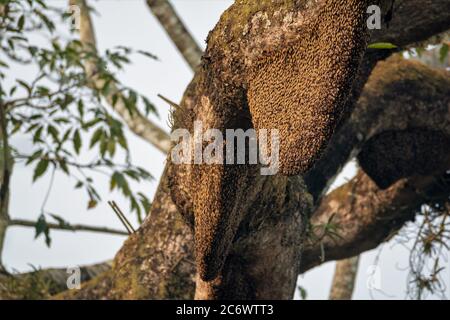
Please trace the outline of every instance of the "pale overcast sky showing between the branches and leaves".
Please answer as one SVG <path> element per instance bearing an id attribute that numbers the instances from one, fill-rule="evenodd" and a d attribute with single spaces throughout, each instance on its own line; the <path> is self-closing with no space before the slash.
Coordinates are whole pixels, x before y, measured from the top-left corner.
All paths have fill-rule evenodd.
<path id="1" fill-rule="evenodd" d="M 65 0 L 54 0 L 64 4 Z M 172 0 L 177 12 L 185 21 L 189 30 L 204 48 L 208 32 L 218 21 L 220 14 L 232 3 L 228 0 Z M 168 106 L 157 98 L 162 94 L 173 101 L 179 101 L 192 72 L 176 48 L 166 36 L 158 22 L 151 15 L 144 0 L 98 0 L 90 1 L 99 15 L 95 15 L 94 25 L 100 50 L 125 45 L 135 49 L 149 51 L 160 58 L 151 61 L 146 57 L 135 56 L 133 64 L 120 74 L 120 79 L 138 92 L 145 94 L 158 107 L 160 118 L 152 120 L 168 130 Z M 29 79 L 34 74 L 29 68 L 17 67 L 14 77 Z M 164 156 L 146 142 L 128 134 L 130 150 L 135 164 L 147 168 L 157 179 L 146 185 L 133 185 L 153 197 L 157 180 L 161 175 Z M 18 138 L 14 144 L 21 148 L 30 148 L 30 142 Z M 37 183 L 31 183 L 33 167 L 17 165 L 12 179 L 10 214 L 12 217 L 37 219 L 42 201 L 47 191 L 49 175 Z M 355 173 L 355 165 L 349 165 L 336 185 L 345 182 Z M 107 200 L 115 200 L 122 208 L 128 203 L 120 194 L 110 194 L 106 180 L 99 178 L 98 189 L 103 203 L 94 209 L 86 210 L 86 197 L 73 189 L 74 181 L 64 175 L 57 175 L 55 187 L 50 193 L 46 209 L 57 213 L 71 223 L 102 225 L 122 229 L 120 222 L 107 206 Z M 133 216 L 129 216 L 134 222 Z M 71 233 L 52 231 L 52 246 L 47 248 L 44 240 L 34 240 L 34 230 L 21 227 L 9 228 L 6 238 L 3 260 L 10 270 L 30 270 L 32 267 L 65 267 L 91 264 L 111 259 L 121 247 L 124 237 L 92 233 Z M 381 248 L 362 256 L 355 299 L 403 299 L 405 298 L 406 277 L 408 274 L 408 249 L 396 244 L 396 241 L 384 244 Z M 377 259 L 378 257 L 378 259 Z M 446 262 L 447 268 L 449 262 Z M 373 265 L 379 269 L 381 291 L 367 288 L 368 272 Z M 307 290 L 309 299 L 326 299 L 333 276 L 334 263 L 327 263 L 299 278 L 299 285 Z M 449 273 L 446 274 L 450 285 Z M 447 289 L 447 295 L 450 290 Z"/>

